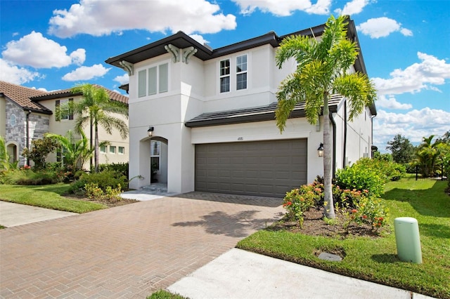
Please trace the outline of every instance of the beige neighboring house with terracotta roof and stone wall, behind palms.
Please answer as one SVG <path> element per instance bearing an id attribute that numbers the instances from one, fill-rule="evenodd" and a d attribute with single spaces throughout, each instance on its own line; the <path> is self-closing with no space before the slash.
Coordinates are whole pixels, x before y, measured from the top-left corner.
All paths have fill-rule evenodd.
<path id="1" fill-rule="evenodd" d="M 126 96 L 106 88 L 105 90 L 111 100 L 128 102 Z M 56 119 L 53 112 L 58 109 L 58 105 L 63 105 L 69 100 L 79 100 L 81 97 L 81 93 L 74 94 L 70 89 L 44 92 L 0 81 L 0 135 L 5 136 L 12 160 L 19 161 L 19 165 L 23 166 L 27 164 L 26 159 L 22 157 L 23 149 L 30 147 L 32 140 L 42 138 L 44 133 L 48 132 L 65 135 L 68 130 L 73 130 L 75 119 L 72 115 Z M 84 132 L 89 139 L 89 128 Z M 100 164 L 128 162 L 128 138 L 122 140 L 117 131 L 113 131 L 110 135 L 103 128 L 99 128 L 99 139 L 110 142 L 110 145 L 101 148 Z M 49 154 L 47 161 L 55 162 L 61 159 L 63 159 L 61 153 L 55 153 Z M 89 161 L 84 164 L 84 168 L 89 169 Z"/>

